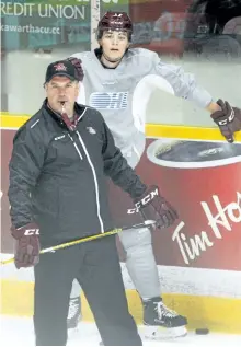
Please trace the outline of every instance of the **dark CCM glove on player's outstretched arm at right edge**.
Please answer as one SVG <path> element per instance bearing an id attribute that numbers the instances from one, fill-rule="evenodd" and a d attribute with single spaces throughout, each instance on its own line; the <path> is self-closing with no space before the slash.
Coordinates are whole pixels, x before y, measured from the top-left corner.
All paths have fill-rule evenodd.
<path id="1" fill-rule="evenodd" d="M 232 107 L 227 101 L 223 102 L 220 99 L 217 104 L 221 109 L 214 112 L 210 116 L 227 141 L 231 143 L 234 141 L 234 132 L 241 130 L 241 109 Z"/>

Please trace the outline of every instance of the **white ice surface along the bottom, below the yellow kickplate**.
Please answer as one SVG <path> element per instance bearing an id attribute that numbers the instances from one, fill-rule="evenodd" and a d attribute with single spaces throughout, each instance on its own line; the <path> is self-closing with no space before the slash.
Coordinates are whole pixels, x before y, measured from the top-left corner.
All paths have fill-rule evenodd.
<path id="1" fill-rule="evenodd" d="M 34 332 L 31 319 L 19 319 L 1 315 L 0 346 L 2 347 L 28 347 L 34 346 Z M 141 327 L 140 327 L 141 335 Z M 99 346 L 101 338 L 93 324 L 80 323 L 79 331 L 72 332 L 68 346 Z M 190 333 L 186 337 L 172 340 L 144 340 L 144 346 L 182 346 L 182 347 L 214 347 L 228 346 L 240 347 L 241 335 L 195 335 Z"/>

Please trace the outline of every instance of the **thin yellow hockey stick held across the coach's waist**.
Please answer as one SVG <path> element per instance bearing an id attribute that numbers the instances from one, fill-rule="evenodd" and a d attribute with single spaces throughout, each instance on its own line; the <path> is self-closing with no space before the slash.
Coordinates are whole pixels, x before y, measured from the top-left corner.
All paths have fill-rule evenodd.
<path id="1" fill-rule="evenodd" d="M 115 228 L 113 230 L 106 231 L 106 232 L 101 233 L 101 234 L 87 236 L 87 238 L 83 238 L 83 239 L 79 239 L 79 240 L 76 240 L 76 241 L 61 243 L 61 244 L 58 244 L 56 246 L 51 246 L 51 247 L 48 247 L 48 248 L 41 250 L 41 254 L 48 253 L 48 252 L 55 252 L 57 250 L 67 248 L 67 247 L 70 247 L 70 246 L 73 246 L 76 244 L 80 244 L 80 243 L 83 243 L 83 242 L 89 242 L 89 241 L 97 240 L 97 239 L 101 239 L 101 238 L 118 234 L 119 232 L 128 230 L 128 229 L 139 229 L 139 228 L 144 228 L 144 227 L 150 227 L 150 225 L 153 225 L 153 224 L 156 224 L 154 220 L 145 220 L 142 223 L 134 224 L 134 225 L 130 225 L 130 227 Z M 13 263 L 13 261 L 14 261 L 14 257 L 9 258 L 7 261 L 1 261 L 0 264 L 1 265 L 5 265 L 5 264 Z"/>

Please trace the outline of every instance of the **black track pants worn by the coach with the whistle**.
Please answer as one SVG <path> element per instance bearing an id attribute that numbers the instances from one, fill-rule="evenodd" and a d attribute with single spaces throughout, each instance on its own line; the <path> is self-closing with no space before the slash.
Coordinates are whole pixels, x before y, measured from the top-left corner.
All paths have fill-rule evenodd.
<path id="1" fill-rule="evenodd" d="M 77 278 L 105 346 L 141 346 L 128 312 L 115 238 L 41 256 L 34 268 L 36 346 L 65 346 L 72 280 Z"/>

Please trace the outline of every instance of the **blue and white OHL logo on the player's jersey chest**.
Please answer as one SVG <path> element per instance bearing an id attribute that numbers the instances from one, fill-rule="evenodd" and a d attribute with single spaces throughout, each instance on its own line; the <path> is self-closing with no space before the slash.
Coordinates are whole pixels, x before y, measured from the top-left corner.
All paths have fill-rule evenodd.
<path id="1" fill-rule="evenodd" d="M 90 95 L 90 106 L 97 109 L 124 109 L 127 107 L 128 92 L 103 93 Z"/>

